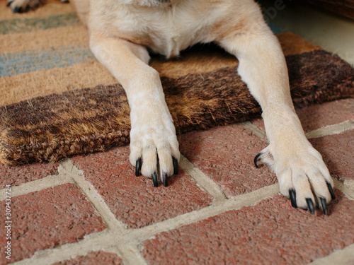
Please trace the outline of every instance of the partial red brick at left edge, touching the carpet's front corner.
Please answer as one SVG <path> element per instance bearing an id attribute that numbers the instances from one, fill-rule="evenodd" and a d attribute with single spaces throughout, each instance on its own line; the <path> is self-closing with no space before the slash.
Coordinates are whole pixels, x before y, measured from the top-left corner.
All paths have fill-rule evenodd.
<path id="1" fill-rule="evenodd" d="M 18 186 L 25 182 L 42 179 L 48 175 L 58 175 L 58 166 L 58 163 L 35 163 L 8 167 L 0 163 L 0 189 L 3 189 L 6 184 Z"/>

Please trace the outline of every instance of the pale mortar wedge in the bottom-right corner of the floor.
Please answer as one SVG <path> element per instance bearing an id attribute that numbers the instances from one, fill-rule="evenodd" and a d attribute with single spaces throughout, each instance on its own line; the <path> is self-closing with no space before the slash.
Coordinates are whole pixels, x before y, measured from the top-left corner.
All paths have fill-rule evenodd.
<path id="1" fill-rule="evenodd" d="M 316 259 L 308 265 L 353 265 L 354 264 L 354 244 L 340 250 L 335 250 L 329 256 Z"/>

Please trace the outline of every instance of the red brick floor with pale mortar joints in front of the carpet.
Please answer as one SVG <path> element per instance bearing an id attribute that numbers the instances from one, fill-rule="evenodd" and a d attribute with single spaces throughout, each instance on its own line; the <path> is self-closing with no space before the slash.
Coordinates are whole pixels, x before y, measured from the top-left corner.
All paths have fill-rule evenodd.
<path id="1" fill-rule="evenodd" d="M 298 112 L 308 131 L 353 119 L 353 103 L 354 100 L 340 100 Z M 316 122 L 312 122 L 314 119 Z M 253 124 L 262 128 L 258 120 Z M 128 146 L 76 156 L 71 158 L 72 163 L 83 171 L 86 181 L 96 190 L 82 189 L 86 192 L 84 194 L 78 187 L 79 182 L 28 194 L 19 187 L 23 189 L 20 193 L 25 195 L 11 199 L 11 262 L 29 259 L 24 260 L 24 264 L 32 265 L 41 259 L 42 264 L 50 264 L 45 262 L 45 255 L 33 256 L 41 249 L 53 249 L 47 255 L 50 260 L 59 261 L 55 265 L 123 264 L 122 257 L 127 264 L 142 264 L 144 259 L 148 264 L 307 264 L 326 257 L 336 249 L 354 244 L 351 229 L 354 201 L 350 200 L 354 194 L 353 133 L 354 130 L 350 130 L 310 139 L 323 155 L 331 175 L 341 182 L 347 181 L 346 191 L 349 193 L 344 196 L 335 189 L 337 199 L 329 206 L 329 216 L 324 216 L 321 211 L 312 216 L 301 209 L 291 208 L 290 201 L 280 195 L 271 195 L 273 197 L 255 205 L 254 202 L 246 204 L 250 206 L 239 210 L 219 211 L 222 204 L 229 205 L 238 197 L 223 201 L 221 196 L 213 202 L 212 196 L 200 188 L 183 168 L 177 176 L 169 179 L 169 187 L 161 187 L 160 184 L 154 188 L 152 179 L 135 177 L 135 168 L 128 161 Z M 252 200 L 250 192 L 276 183 L 276 177 L 268 167 L 256 169 L 253 165 L 254 156 L 267 143 L 241 124 L 193 131 L 178 138 L 181 153 L 212 179 L 212 183 L 207 183 L 218 185 L 228 198 L 248 194 L 249 197 L 242 198 Z M 68 179 L 70 174 L 78 174 L 66 165 L 63 163 L 62 174 L 67 174 Z M 0 164 L 0 182 L 3 187 L 5 184 L 19 186 L 57 175 L 58 166 L 59 163 L 21 167 Z M 193 172 L 187 172 L 193 175 Z M 45 182 L 47 187 L 50 186 L 49 181 Z M 74 183 L 74 178 L 71 181 Z M 94 192 L 94 196 L 88 196 L 89 192 Z M 106 204 L 115 218 L 130 230 L 118 228 L 120 232 L 117 232 L 110 229 L 115 222 L 110 221 L 110 216 L 104 216 L 107 214 L 102 210 L 104 207 L 96 210 L 93 208 L 95 202 L 90 201 L 92 198 L 100 199 L 95 197 L 96 192 L 103 198 L 100 204 Z M 4 213 L 4 207 L 4 201 L 1 201 L 0 212 Z M 182 214 L 185 214 L 183 218 Z M 199 214 L 203 217 L 200 218 Z M 109 228 L 101 216 L 110 222 Z M 177 218 L 171 219 L 174 217 Z M 193 218 L 200 221 L 193 221 Z M 94 241 L 95 251 L 90 243 L 84 243 L 84 249 L 87 249 L 84 253 L 89 254 L 65 255 L 65 244 L 72 243 L 70 248 L 76 249 L 72 252 L 76 253 L 82 247 L 76 242 L 83 242 L 85 235 L 102 230 L 107 234 L 84 240 L 91 242 L 93 238 L 99 238 L 101 241 Z M 1 225 L 0 235 L 5 234 L 6 227 Z M 115 253 L 107 251 L 114 249 L 112 244 L 118 249 Z M 4 236 L 0 236 L 0 245 L 6 246 Z M 97 246 L 101 251 L 96 251 Z M 50 253 L 61 253 L 61 257 L 64 254 L 65 259 Z M 347 252 L 346 255 L 351 255 L 354 260 L 354 254 Z M 8 264 L 4 252 L 0 254 L 0 264 Z"/>

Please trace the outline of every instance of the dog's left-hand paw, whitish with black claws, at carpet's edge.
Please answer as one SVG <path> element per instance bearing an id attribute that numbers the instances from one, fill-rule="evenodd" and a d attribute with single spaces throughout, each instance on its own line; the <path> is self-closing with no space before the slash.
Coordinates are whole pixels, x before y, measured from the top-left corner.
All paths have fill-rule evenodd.
<path id="1" fill-rule="evenodd" d="M 163 117 L 169 118 L 163 119 Z M 149 121 L 132 122 L 130 131 L 130 163 L 135 166 L 135 175 L 153 179 L 158 187 L 158 179 L 167 186 L 167 179 L 178 174 L 178 141 L 171 115 L 149 117 Z"/>

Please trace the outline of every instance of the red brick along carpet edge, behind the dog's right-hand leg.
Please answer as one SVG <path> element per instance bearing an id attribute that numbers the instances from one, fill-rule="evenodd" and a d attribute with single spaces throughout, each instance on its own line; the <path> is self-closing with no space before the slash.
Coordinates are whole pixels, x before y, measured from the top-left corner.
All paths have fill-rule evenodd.
<path id="1" fill-rule="evenodd" d="M 312 105 L 296 110 L 304 131 L 313 131 L 324 126 L 339 124 L 354 119 L 354 99 L 348 98 Z M 262 119 L 255 119 L 253 124 L 264 131 Z"/>

